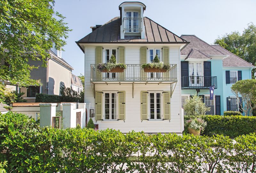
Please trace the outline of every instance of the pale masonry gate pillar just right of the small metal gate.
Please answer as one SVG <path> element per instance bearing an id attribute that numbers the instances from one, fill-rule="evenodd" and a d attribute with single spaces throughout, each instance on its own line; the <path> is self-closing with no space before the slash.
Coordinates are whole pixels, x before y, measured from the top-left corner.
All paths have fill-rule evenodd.
<path id="1" fill-rule="evenodd" d="M 62 103 L 62 110 L 63 129 L 73 127 L 72 122 L 74 119 L 76 121 L 76 116 L 71 117 L 73 115 L 74 103 Z"/>

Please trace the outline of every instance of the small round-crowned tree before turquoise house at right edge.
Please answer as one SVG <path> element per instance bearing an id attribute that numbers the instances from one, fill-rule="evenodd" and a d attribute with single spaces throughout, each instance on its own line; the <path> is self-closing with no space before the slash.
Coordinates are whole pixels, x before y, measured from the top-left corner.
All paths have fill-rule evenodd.
<path id="1" fill-rule="evenodd" d="M 237 81 L 232 85 L 231 91 L 237 98 L 242 97 L 242 103 L 239 103 L 245 115 L 252 115 L 256 109 L 256 79 L 246 79 Z M 244 105 L 244 106 L 243 106 Z"/>

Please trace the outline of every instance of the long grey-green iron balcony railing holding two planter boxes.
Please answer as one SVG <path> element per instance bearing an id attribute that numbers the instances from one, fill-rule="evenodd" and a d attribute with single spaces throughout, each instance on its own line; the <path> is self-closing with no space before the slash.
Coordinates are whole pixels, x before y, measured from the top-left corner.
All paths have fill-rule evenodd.
<path id="1" fill-rule="evenodd" d="M 91 64 L 92 82 L 138 82 L 138 81 L 166 81 L 177 82 L 177 64 L 170 64 L 169 72 L 144 72 L 141 64 L 126 64 L 127 68 L 122 73 L 105 73 L 97 69 L 97 64 Z"/>

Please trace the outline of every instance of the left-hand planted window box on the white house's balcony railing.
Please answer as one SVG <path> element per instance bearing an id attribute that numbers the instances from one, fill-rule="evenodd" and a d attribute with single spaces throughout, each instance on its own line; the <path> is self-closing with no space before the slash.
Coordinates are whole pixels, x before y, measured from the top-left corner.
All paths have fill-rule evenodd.
<path id="1" fill-rule="evenodd" d="M 127 68 L 123 63 L 116 63 L 116 57 L 111 55 L 109 62 L 98 64 L 97 69 L 100 72 L 112 72 L 112 73 L 122 73 Z"/>

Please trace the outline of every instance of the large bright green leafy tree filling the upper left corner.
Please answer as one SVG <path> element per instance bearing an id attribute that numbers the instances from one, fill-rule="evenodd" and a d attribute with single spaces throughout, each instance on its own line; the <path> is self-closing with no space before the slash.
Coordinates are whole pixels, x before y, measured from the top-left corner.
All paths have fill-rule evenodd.
<path id="1" fill-rule="evenodd" d="M 54 11 L 54 3 L 0 1 L 0 79 L 20 86 L 38 84 L 30 79 L 30 71 L 37 67 L 29 65 L 28 59 L 42 60 L 46 66 L 48 50 L 60 50 L 71 31 L 63 21 L 65 17 Z"/>

